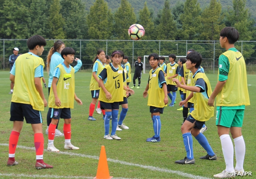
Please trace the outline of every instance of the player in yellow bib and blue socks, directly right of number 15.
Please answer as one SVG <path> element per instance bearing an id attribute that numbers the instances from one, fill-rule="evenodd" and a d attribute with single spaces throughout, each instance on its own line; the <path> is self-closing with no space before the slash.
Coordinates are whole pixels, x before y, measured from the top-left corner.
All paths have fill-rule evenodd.
<path id="1" fill-rule="evenodd" d="M 148 96 L 148 106 L 150 106 L 155 135 L 152 138 L 147 138 L 146 142 L 160 142 L 160 114 L 163 114 L 164 106 L 168 104 L 167 87 L 164 71 L 158 67 L 158 54 L 150 54 L 148 60 L 152 69 L 149 72 L 148 84 L 143 92 L 143 97 L 146 98 Z"/>

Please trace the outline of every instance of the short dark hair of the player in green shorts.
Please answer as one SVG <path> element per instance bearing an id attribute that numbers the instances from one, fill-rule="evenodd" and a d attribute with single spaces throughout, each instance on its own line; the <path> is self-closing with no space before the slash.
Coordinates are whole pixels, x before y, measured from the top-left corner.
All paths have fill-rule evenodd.
<path id="1" fill-rule="evenodd" d="M 239 39 L 239 33 L 235 28 L 226 27 L 220 31 L 220 37 L 227 37 L 228 43 L 234 44 Z"/>

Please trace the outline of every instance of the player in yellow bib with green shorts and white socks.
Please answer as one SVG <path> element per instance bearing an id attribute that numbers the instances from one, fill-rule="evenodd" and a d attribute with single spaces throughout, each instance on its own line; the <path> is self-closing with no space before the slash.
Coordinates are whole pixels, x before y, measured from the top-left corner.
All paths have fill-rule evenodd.
<path id="1" fill-rule="evenodd" d="M 214 175 L 217 178 L 229 178 L 244 175 L 245 143 L 242 136 L 242 124 L 246 105 L 250 105 L 247 87 L 246 64 L 243 55 L 234 47 L 239 33 L 232 27 L 220 31 L 220 46 L 226 49 L 219 57 L 218 82 L 209 98 L 208 104 L 214 106 L 216 97 L 216 125 L 222 146 L 226 169 Z M 234 168 L 234 139 L 236 167 Z M 231 175 L 230 175 L 231 174 Z"/>

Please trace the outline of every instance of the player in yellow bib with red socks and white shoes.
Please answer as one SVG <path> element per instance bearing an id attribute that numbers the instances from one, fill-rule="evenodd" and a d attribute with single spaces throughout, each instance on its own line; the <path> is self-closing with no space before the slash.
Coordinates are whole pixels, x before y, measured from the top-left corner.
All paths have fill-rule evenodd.
<path id="1" fill-rule="evenodd" d="M 54 135 L 56 125 L 60 118 L 64 119 L 64 149 L 79 149 L 71 144 L 71 112 L 74 108 L 74 99 L 79 105 L 82 101 L 75 94 L 75 70 L 70 64 L 74 61 L 75 51 L 66 47 L 61 51 L 61 57 L 64 62 L 55 68 L 52 79 L 52 87 L 49 95 L 49 108 L 52 108 L 51 118 L 48 129 L 48 147 L 47 151 L 59 152 L 54 147 Z"/>

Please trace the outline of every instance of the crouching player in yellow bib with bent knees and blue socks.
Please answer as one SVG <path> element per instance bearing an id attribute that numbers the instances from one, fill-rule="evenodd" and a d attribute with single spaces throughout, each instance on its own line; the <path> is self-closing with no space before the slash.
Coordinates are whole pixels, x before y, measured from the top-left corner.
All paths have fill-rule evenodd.
<path id="1" fill-rule="evenodd" d="M 192 85 L 182 85 L 178 79 L 172 81 L 178 87 L 191 91 L 190 95 L 184 101 L 180 102 L 180 106 L 186 104 L 190 98 L 194 98 L 194 110 L 186 118 L 186 121 L 181 126 L 184 146 L 186 149 L 186 157 L 182 160 L 177 160 L 178 164 L 193 164 L 195 163 L 193 154 L 192 135 L 198 140 L 199 144 L 207 151 L 207 155 L 200 159 L 216 160 L 217 156 L 213 152 L 204 134 L 200 133 L 200 129 L 205 121 L 208 121 L 214 116 L 214 107 L 208 106 L 209 96 L 212 94 L 212 89 L 205 73 L 201 71 L 200 64 L 202 55 L 198 52 L 191 52 L 187 55 L 186 68 L 192 72 Z"/>

